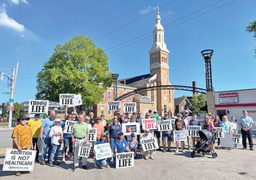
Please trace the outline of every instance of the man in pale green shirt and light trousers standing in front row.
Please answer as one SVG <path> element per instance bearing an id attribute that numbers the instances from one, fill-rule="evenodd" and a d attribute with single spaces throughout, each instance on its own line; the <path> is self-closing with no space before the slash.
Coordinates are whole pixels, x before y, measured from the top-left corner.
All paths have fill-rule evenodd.
<path id="1" fill-rule="evenodd" d="M 80 142 L 83 141 L 87 143 L 89 135 L 89 127 L 86 122 L 83 122 L 83 115 L 79 115 L 78 122 L 76 122 L 73 127 L 71 128 L 71 138 L 74 147 L 74 169 L 78 168 L 79 161 L 78 157 L 78 150 Z M 82 168 L 86 169 L 87 165 L 87 158 L 82 157 Z"/>

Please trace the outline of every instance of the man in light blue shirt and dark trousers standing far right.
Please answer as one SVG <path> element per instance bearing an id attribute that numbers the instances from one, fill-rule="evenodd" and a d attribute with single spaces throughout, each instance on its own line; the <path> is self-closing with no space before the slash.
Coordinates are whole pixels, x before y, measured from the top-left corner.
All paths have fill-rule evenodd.
<path id="1" fill-rule="evenodd" d="M 242 127 L 241 133 L 242 133 L 242 139 L 243 139 L 243 149 L 246 149 L 246 137 L 248 138 L 250 150 L 253 150 L 253 142 L 252 142 L 252 133 L 251 133 L 251 126 L 254 123 L 252 118 L 247 116 L 248 112 L 243 111 L 243 115 L 239 119 L 239 125 Z"/>

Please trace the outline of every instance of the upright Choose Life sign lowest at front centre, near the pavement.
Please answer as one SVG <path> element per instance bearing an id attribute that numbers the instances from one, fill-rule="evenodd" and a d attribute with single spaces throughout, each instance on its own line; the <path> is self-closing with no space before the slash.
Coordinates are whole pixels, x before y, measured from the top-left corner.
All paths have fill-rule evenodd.
<path id="1" fill-rule="evenodd" d="M 116 168 L 134 167 L 134 152 L 117 153 Z"/>

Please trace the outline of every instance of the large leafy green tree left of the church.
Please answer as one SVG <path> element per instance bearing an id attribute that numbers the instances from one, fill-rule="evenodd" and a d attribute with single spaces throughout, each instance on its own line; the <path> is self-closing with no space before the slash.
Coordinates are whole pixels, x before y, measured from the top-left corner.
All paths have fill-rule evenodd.
<path id="1" fill-rule="evenodd" d="M 51 58 L 37 74 L 36 99 L 59 101 L 61 93 L 81 94 L 83 106 L 100 102 L 113 83 L 108 56 L 93 40 L 77 35 L 57 44 Z"/>

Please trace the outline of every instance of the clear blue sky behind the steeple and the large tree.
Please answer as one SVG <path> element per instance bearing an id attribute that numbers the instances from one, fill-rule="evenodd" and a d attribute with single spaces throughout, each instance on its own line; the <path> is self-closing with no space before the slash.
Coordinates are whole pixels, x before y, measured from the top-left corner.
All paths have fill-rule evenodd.
<path id="1" fill-rule="evenodd" d="M 216 91 L 256 88 L 253 50 L 256 41 L 245 31 L 249 21 L 256 19 L 256 1 L 170 2 L 1 0 L 0 72 L 11 75 L 10 68 L 19 62 L 14 101 L 34 99 L 36 72 L 51 57 L 56 44 L 63 44 L 77 34 L 89 36 L 108 53 L 110 69 L 120 74 L 119 79 L 149 73 L 148 51 L 153 37 L 146 37 L 152 35 L 157 6 L 162 7 L 161 24 L 166 30 L 165 42 L 170 51 L 170 83 L 191 86 L 192 81 L 196 81 L 198 87 L 205 88 L 204 60 L 200 52 L 211 48 L 215 51 L 212 81 Z M 210 7 L 203 9 L 207 6 Z M 200 9 L 203 10 L 196 12 Z M 196 13 L 187 16 L 193 12 Z M 178 20 L 184 16 L 187 17 Z M 145 33 L 148 34 L 118 45 Z M 141 41 L 134 43 L 138 40 Z M 118 49 L 120 47 L 123 48 Z M 5 102 L 10 96 L 2 92 L 10 92 L 6 78 L 0 82 L 0 102 Z M 191 92 L 175 91 L 175 97 L 181 95 L 191 95 Z"/>

